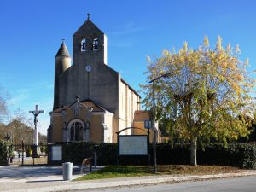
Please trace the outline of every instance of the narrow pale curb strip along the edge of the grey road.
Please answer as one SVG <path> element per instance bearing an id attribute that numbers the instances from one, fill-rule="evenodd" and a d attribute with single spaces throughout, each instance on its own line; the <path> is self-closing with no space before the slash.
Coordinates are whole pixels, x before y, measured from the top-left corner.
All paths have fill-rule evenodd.
<path id="1" fill-rule="evenodd" d="M 9 192 L 50 192 L 50 191 L 71 191 L 71 190 L 82 190 L 82 189 L 102 189 L 109 187 L 125 187 L 134 186 L 141 184 L 154 184 L 154 183 L 175 183 L 175 182 L 186 182 L 186 181 L 197 181 L 224 177 L 247 177 L 256 175 L 256 171 L 253 172 L 239 172 L 239 173 L 223 173 L 217 175 L 203 175 L 203 176 L 179 176 L 179 177 L 124 177 L 127 180 L 120 181 L 99 181 L 86 183 L 70 183 L 68 185 L 57 185 L 53 187 L 34 188 L 34 189 L 19 189 L 9 190 Z"/>

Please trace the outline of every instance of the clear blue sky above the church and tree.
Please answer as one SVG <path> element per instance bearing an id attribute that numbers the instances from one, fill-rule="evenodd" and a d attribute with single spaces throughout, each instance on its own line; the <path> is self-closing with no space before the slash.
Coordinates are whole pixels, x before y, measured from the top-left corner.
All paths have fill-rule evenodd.
<path id="1" fill-rule="evenodd" d="M 108 65 L 135 89 L 145 84 L 146 56 L 196 49 L 208 36 L 240 45 L 241 59 L 256 68 L 254 0 L 1 0 L 0 84 L 9 92 L 10 109 L 27 112 L 38 104 L 40 132 L 46 134 L 53 104 L 55 54 L 66 39 L 72 54 L 73 33 L 87 19 L 108 36 Z M 29 116 L 30 114 L 28 114 Z"/>

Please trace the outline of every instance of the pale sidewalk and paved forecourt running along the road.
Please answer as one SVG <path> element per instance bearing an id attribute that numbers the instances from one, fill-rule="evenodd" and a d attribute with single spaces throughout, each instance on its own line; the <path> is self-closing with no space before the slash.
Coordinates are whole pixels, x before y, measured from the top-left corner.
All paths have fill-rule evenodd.
<path id="1" fill-rule="evenodd" d="M 244 177 L 256 175 L 256 171 L 248 170 L 241 173 L 225 173 L 218 175 L 204 176 L 148 176 L 148 177 L 120 177 L 83 182 L 63 181 L 61 166 L 48 167 L 18 167 L 24 169 L 21 172 L 26 174 L 17 175 L 19 169 L 9 166 L 0 166 L 0 191 L 12 192 L 48 192 L 67 191 L 78 189 L 100 189 L 106 187 L 131 186 L 139 184 L 172 183 L 191 180 L 202 180 L 222 177 Z M 101 167 L 99 167 L 101 168 Z M 96 171 L 96 170 L 93 170 Z M 5 172 L 5 173 L 4 173 Z M 30 175 L 31 174 L 31 175 Z M 3 177 L 3 176 L 6 177 Z M 73 179 L 80 177 L 79 167 L 73 168 Z"/>

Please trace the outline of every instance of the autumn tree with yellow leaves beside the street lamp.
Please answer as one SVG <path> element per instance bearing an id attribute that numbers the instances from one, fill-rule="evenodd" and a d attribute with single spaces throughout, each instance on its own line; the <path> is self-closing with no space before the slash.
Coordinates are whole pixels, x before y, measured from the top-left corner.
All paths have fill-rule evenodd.
<path id="1" fill-rule="evenodd" d="M 189 49 L 185 42 L 177 52 L 164 50 L 154 61 L 148 57 L 148 81 L 170 73 L 155 81 L 156 117 L 169 122 L 170 134 L 190 142 L 191 165 L 197 165 L 199 138 L 227 143 L 249 134 L 245 117 L 255 111 L 255 81 L 247 72 L 248 60 L 241 61 L 240 54 L 238 45 L 224 49 L 218 36 L 213 49 L 205 37 L 198 49 Z M 141 87 L 144 104 L 151 108 L 152 84 Z"/>

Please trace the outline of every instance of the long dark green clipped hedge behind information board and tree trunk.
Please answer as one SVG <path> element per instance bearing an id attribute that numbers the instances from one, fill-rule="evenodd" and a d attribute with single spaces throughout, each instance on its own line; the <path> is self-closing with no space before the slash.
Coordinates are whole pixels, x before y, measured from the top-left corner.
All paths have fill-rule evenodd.
<path id="1" fill-rule="evenodd" d="M 63 161 L 80 164 L 86 157 L 97 154 L 97 165 L 148 165 L 147 156 L 118 156 L 116 143 L 62 143 Z M 189 164 L 189 144 L 157 143 L 158 165 Z M 152 146 L 149 146 L 152 164 Z M 197 150 L 199 165 L 238 166 L 256 168 L 256 144 L 220 143 L 199 144 Z"/>

